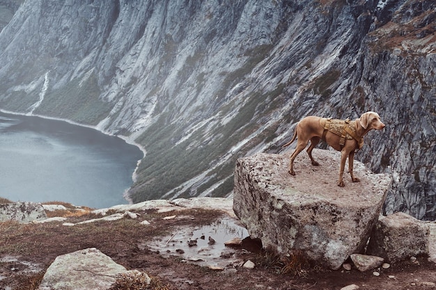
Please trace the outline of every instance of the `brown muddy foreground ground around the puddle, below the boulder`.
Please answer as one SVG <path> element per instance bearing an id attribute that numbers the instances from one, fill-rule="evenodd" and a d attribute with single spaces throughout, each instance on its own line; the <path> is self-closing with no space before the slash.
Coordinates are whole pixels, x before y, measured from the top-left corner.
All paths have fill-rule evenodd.
<path id="1" fill-rule="evenodd" d="M 45 270 L 58 255 L 84 248 L 98 248 L 127 269 L 148 273 L 159 281 L 154 289 L 330 290 L 350 284 L 374 290 L 436 289 L 436 266 L 426 257 L 375 269 L 378 277 L 373 271 L 361 273 L 355 268 L 330 271 L 299 257 L 283 260 L 263 252 L 259 243 L 246 238 L 244 229 L 221 211 L 149 210 L 137 214 L 136 219 L 74 226 L 64 222 L 0 223 L 0 290 L 38 289 Z M 68 223 L 98 217 L 89 213 L 51 215 L 70 216 Z M 143 220 L 150 225 L 141 225 Z M 231 236 L 246 239 L 242 245 L 224 246 Z M 248 260 L 254 261 L 255 268 L 242 267 Z"/>

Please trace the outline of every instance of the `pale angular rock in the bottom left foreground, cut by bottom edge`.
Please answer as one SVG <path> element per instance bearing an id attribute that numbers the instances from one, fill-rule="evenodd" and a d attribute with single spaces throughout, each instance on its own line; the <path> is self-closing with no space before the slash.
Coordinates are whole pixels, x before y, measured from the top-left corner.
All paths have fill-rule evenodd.
<path id="1" fill-rule="evenodd" d="M 130 275 L 130 271 L 100 250 L 78 250 L 56 257 L 47 268 L 39 290 L 109 289 L 116 282 L 117 275 L 121 274 Z"/>

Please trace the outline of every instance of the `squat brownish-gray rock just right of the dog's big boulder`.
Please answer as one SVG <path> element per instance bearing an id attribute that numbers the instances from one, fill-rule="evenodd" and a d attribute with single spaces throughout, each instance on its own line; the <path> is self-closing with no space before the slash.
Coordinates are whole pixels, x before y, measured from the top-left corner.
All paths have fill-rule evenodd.
<path id="1" fill-rule="evenodd" d="M 428 254 L 429 234 L 427 223 L 398 212 L 377 221 L 366 253 L 390 262 Z"/>

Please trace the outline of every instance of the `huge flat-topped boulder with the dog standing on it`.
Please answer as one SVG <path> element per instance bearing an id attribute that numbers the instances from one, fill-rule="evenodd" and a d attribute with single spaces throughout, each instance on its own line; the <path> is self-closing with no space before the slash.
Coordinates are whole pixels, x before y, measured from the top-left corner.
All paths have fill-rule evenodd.
<path id="1" fill-rule="evenodd" d="M 341 155 L 313 150 L 320 166 L 306 154 L 288 173 L 288 154 L 256 154 L 235 166 L 233 210 L 254 239 L 283 255 L 298 250 L 310 260 L 338 269 L 360 252 L 382 209 L 391 179 L 355 161 L 355 176 L 336 185 Z M 348 168 L 346 166 L 346 168 Z"/>

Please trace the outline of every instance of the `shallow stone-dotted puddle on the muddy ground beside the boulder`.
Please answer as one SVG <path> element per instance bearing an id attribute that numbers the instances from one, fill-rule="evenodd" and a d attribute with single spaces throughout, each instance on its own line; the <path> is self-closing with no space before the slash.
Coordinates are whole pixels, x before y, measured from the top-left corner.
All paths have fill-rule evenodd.
<path id="1" fill-rule="evenodd" d="M 178 256 L 185 261 L 200 266 L 218 266 L 225 268 L 240 261 L 235 257 L 235 248 L 224 243 L 234 238 L 245 239 L 247 229 L 236 225 L 231 218 L 205 225 L 203 227 L 178 228 L 171 235 L 151 243 L 139 245 L 159 251 L 164 257 Z"/>

